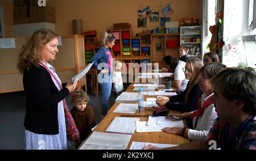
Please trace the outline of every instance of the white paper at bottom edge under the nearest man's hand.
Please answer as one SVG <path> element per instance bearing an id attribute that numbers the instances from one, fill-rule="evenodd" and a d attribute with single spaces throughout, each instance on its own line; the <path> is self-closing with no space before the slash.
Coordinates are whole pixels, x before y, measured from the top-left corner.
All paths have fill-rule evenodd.
<path id="1" fill-rule="evenodd" d="M 177 145 L 174 145 L 174 144 L 135 142 L 135 141 L 133 141 L 131 143 L 130 150 L 142 150 L 143 147 L 148 146 L 148 145 L 152 145 L 152 146 L 156 146 L 156 147 L 160 147 L 160 148 L 177 146 Z"/>

